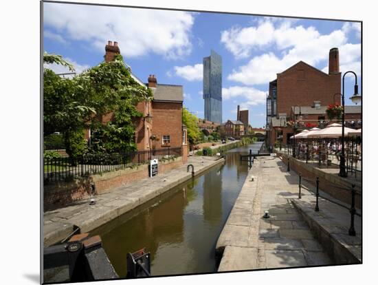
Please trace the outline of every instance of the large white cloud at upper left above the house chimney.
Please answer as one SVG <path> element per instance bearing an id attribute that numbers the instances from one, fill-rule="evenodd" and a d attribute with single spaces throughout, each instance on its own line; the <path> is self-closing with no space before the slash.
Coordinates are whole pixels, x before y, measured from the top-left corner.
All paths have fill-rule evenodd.
<path id="1" fill-rule="evenodd" d="M 194 16 L 189 12 L 44 3 L 44 23 L 66 39 L 86 41 L 104 52 L 118 41 L 122 55 L 149 52 L 168 58 L 189 54 Z"/>

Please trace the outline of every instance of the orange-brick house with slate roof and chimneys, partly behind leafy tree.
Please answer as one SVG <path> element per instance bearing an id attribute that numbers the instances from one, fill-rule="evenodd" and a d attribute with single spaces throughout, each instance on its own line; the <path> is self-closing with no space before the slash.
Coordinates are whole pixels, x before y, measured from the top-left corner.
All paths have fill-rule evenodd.
<path id="1" fill-rule="evenodd" d="M 118 43 L 108 41 L 105 46 L 105 61 L 112 61 L 117 54 L 120 54 Z M 137 150 L 182 147 L 185 159 L 188 154 L 188 142 L 186 127 L 182 123 L 183 87 L 159 84 L 153 74 L 148 76 L 148 83 L 143 83 L 131 70 L 130 74 L 137 83 L 150 88 L 153 92 L 152 101 L 143 101 L 137 104 L 137 110 L 142 113 L 142 117 L 134 119 Z M 112 118 L 113 113 L 109 113 L 102 116 L 101 121 L 107 123 Z M 90 137 L 90 130 L 87 137 Z"/>

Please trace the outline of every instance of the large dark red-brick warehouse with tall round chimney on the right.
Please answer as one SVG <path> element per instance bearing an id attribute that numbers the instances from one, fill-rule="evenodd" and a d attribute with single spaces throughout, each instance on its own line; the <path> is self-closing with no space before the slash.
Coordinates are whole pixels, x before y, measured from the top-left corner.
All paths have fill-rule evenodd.
<path id="1" fill-rule="evenodd" d="M 278 73 L 277 78 L 269 83 L 267 96 L 267 145 L 274 145 L 280 134 L 282 143 L 289 142 L 293 127 L 287 126 L 287 121 L 294 118 L 298 120 L 300 111 L 303 119 L 308 120 L 307 123 L 322 127 L 319 122 L 326 120 L 326 106 L 340 104 L 340 96 L 334 96 L 340 92 L 341 72 L 339 50 L 336 47 L 329 51 L 328 74 L 303 61 Z M 346 119 L 361 118 L 361 113 L 358 115 L 356 110 L 351 111 L 354 113 L 346 112 Z"/>

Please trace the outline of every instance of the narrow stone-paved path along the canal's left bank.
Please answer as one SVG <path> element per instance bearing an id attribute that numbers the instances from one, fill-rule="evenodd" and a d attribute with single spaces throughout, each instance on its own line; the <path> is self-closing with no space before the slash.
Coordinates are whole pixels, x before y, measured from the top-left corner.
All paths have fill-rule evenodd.
<path id="1" fill-rule="evenodd" d="M 109 193 L 94 196 L 96 204 L 89 205 L 90 199 L 81 200 L 67 207 L 45 211 L 43 213 L 43 242 L 49 246 L 65 239 L 76 226 L 81 232 L 88 232 L 98 226 L 135 209 L 140 204 L 151 200 L 192 177 L 186 170 L 194 165 L 197 175 L 224 161 L 217 157 L 192 156 L 188 162 L 176 169 L 161 173 L 153 178 L 144 178 L 126 186 L 113 189 Z"/>

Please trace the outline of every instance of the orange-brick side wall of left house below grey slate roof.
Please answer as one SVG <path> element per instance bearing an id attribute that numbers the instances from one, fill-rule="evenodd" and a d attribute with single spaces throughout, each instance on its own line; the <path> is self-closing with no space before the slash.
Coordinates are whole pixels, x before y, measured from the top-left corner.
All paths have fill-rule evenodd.
<path id="1" fill-rule="evenodd" d="M 182 103 L 153 101 L 153 134 L 159 140 L 153 142 L 156 149 L 163 145 L 163 136 L 170 136 L 169 147 L 182 146 Z"/>

